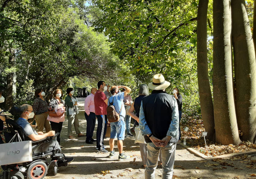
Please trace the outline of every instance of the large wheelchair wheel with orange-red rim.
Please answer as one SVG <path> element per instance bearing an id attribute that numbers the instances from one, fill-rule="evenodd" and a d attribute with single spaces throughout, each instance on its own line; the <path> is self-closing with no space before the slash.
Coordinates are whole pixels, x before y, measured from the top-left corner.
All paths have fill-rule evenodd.
<path id="1" fill-rule="evenodd" d="M 32 163 L 27 171 L 29 179 L 43 179 L 47 174 L 47 166 L 44 162 L 38 161 Z"/>

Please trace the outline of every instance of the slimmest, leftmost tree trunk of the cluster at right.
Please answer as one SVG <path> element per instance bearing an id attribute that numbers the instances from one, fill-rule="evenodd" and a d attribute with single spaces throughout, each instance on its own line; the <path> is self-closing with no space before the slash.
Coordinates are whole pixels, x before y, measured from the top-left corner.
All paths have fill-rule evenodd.
<path id="1" fill-rule="evenodd" d="M 209 0 L 199 0 L 197 11 L 197 79 L 201 112 L 207 138 L 213 140 L 214 113 L 207 59 L 207 11 Z"/>

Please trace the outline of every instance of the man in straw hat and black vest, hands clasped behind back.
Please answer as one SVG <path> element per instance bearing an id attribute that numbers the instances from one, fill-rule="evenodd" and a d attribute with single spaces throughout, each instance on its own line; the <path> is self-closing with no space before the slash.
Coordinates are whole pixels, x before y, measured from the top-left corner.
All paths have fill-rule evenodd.
<path id="1" fill-rule="evenodd" d="M 152 94 L 144 97 L 139 112 L 139 127 L 147 142 L 148 155 L 145 179 L 154 178 L 159 152 L 162 152 L 162 178 L 172 178 L 176 143 L 179 138 L 179 111 L 170 85 L 162 74 L 155 74 L 148 87 Z"/>

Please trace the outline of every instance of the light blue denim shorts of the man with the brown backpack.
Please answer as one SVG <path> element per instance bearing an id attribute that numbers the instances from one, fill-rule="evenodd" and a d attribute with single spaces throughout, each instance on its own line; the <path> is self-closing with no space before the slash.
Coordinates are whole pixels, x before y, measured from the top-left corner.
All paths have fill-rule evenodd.
<path id="1" fill-rule="evenodd" d="M 110 123 L 111 132 L 110 138 L 117 138 L 117 140 L 124 140 L 125 123 L 123 117 L 119 121 Z"/>

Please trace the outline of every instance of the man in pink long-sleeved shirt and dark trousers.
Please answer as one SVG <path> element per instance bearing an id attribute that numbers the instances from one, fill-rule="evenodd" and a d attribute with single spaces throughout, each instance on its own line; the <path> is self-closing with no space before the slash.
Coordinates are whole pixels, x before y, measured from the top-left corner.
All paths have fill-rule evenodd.
<path id="1" fill-rule="evenodd" d="M 84 116 L 87 121 L 86 127 L 86 143 L 93 144 L 96 140 L 93 139 L 93 131 L 95 128 L 96 115 L 94 107 L 94 94 L 97 88 L 91 88 L 91 94 L 84 100 Z"/>

